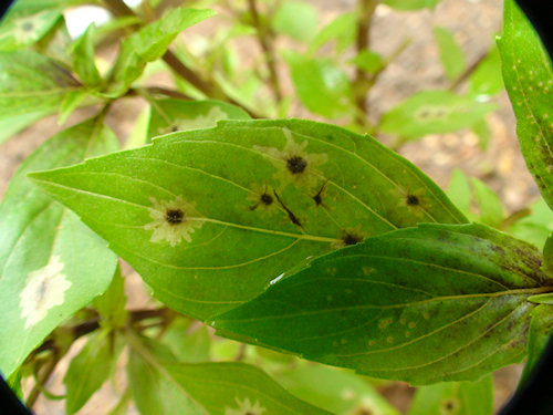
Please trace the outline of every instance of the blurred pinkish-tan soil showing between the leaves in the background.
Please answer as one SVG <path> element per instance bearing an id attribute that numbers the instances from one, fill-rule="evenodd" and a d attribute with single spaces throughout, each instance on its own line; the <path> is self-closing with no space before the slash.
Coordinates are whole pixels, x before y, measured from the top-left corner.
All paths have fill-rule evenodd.
<path id="1" fill-rule="evenodd" d="M 327 22 L 337 14 L 352 10 L 355 1 L 313 0 L 312 3 L 321 11 L 322 20 Z M 396 12 L 386 6 L 378 6 L 372 30 L 372 49 L 386 55 L 405 38 L 411 38 L 413 41 L 383 73 L 372 90 L 369 97 L 371 118 L 377 120 L 380 114 L 417 91 L 448 86 L 434 42 L 432 27 L 441 25 L 456 33 L 456 39 L 462 46 L 467 61 L 471 63 L 490 46 L 493 35 L 501 28 L 501 17 L 502 1 L 497 0 L 444 0 L 434 12 L 428 10 Z M 211 19 L 199 24 L 190 31 L 192 33 L 190 37 L 194 37 L 194 33 L 212 31 L 216 22 L 216 19 Z M 243 48 L 249 49 L 250 44 L 246 44 Z M 253 44 L 253 48 L 257 45 Z M 247 59 L 246 62 L 248 62 Z M 284 66 L 279 68 L 279 74 L 281 77 L 288 79 Z M 149 82 L 156 85 L 167 85 L 168 79 L 153 79 Z M 284 84 L 288 85 L 288 91 L 291 93 L 290 81 L 284 81 Z M 501 94 L 498 102 L 500 108 L 488 117 L 492 138 L 487 151 L 479 148 L 478 138 L 473 133 L 460 131 L 452 134 L 427 136 L 403 146 L 399 153 L 442 187 L 447 186 L 451 170 L 460 168 L 468 176 L 479 177 L 486 181 L 500 195 L 509 211 L 529 205 L 539 193 L 519 151 L 515 121 L 507 94 Z M 106 122 L 122 142 L 128 135 L 143 105 L 138 98 L 126 98 L 116 103 L 111 110 Z M 94 112 L 95 108 L 79 110 L 63 126 L 58 125 L 55 116 L 46 117 L 0 145 L 0 196 L 6 191 L 9 178 L 19 164 L 38 145 L 60 129 L 91 116 Z M 294 106 L 294 113 L 291 116 L 317 120 L 316 116 L 302 111 L 299 106 Z M 390 141 L 390 137 L 386 136 L 378 138 L 384 143 Z M 147 305 L 149 300 L 139 278 L 129 267 L 125 267 L 125 270 L 127 293 L 131 299 L 128 307 Z M 70 353 L 71 356 L 77 352 L 82 343 L 79 341 L 74 344 Z M 54 373 L 46 385 L 51 392 L 64 393 L 62 378 L 66 365 L 67 359 L 64 359 L 59 371 Z M 515 388 L 520 373 L 521 366 L 513 365 L 494 374 L 495 411 Z M 106 413 L 115 404 L 117 394 L 122 391 L 124 376 L 117 376 L 117 380 L 114 384 L 104 385 L 80 414 Z M 413 388 L 406 384 L 397 383 L 395 386 L 388 386 L 383 391 L 383 394 L 403 413 L 408 411 Z M 63 414 L 64 403 L 63 401 L 49 401 L 40 397 L 35 411 L 36 414 Z M 128 414 L 135 413 L 136 409 L 131 407 Z"/>

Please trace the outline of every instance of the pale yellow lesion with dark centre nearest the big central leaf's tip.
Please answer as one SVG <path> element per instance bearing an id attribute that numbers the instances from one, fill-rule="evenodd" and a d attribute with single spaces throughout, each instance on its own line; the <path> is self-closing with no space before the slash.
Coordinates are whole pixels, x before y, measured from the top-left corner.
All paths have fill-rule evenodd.
<path id="1" fill-rule="evenodd" d="M 191 242 L 191 234 L 202 227 L 201 215 L 196 210 L 195 203 L 186 201 L 182 196 L 177 196 L 174 200 L 157 200 L 149 198 L 152 207 L 149 216 L 152 222 L 146 224 L 144 229 L 153 230 L 150 241 L 156 243 L 163 240 L 176 247 L 184 239 Z"/>

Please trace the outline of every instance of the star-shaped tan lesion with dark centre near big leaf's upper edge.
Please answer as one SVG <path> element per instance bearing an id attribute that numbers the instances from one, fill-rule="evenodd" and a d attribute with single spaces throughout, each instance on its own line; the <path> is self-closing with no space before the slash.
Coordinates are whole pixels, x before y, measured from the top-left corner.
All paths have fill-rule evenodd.
<path id="1" fill-rule="evenodd" d="M 316 167 L 326 163 L 328 159 L 326 153 L 309 153 L 306 151 L 309 145 L 306 139 L 296 143 L 288 128 L 283 128 L 283 133 L 286 138 L 284 148 L 278 149 L 258 145 L 253 146 L 253 148 L 263 154 L 276 167 L 274 179 L 282 187 L 293 184 L 309 190 L 315 188 L 322 177 Z"/>

